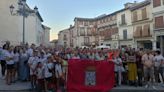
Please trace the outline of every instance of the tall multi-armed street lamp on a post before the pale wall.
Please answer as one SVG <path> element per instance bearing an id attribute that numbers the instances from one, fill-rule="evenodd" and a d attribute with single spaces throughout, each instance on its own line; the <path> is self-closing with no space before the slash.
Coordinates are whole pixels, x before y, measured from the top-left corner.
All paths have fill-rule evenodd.
<path id="1" fill-rule="evenodd" d="M 26 0 L 19 0 L 18 2 L 18 10 L 14 13 L 14 6 L 10 5 L 10 13 L 12 16 L 19 15 L 23 17 L 23 36 L 22 42 L 25 44 L 25 18 L 28 17 L 31 13 L 35 13 L 35 11 L 26 8 Z"/>

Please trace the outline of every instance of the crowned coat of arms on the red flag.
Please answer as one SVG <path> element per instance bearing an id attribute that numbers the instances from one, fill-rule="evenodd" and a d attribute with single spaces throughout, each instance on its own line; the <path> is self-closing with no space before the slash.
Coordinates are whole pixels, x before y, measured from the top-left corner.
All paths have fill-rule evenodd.
<path id="1" fill-rule="evenodd" d="M 94 66 L 89 66 L 85 71 L 85 85 L 95 86 L 96 85 L 96 68 Z"/>

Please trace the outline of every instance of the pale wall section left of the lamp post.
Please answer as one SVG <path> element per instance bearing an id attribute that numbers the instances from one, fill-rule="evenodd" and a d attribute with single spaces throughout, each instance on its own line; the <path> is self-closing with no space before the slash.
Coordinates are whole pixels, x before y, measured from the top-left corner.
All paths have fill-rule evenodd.
<path id="1" fill-rule="evenodd" d="M 20 21 L 21 17 L 11 16 L 10 5 L 17 7 L 17 0 L 1 0 L 0 1 L 0 41 L 9 40 L 13 44 L 22 41 Z M 14 39 L 13 39 L 14 38 Z"/>

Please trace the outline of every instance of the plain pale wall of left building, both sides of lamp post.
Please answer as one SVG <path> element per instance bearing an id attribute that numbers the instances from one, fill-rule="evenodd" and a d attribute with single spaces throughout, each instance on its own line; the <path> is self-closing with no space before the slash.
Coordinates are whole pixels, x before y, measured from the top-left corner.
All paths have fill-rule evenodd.
<path id="1" fill-rule="evenodd" d="M 23 39 L 23 17 L 16 15 L 12 16 L 10 13 L 10 5 L 18 10 L 18 0 L 0 0 L 0 42 L 11 41 L 11 44 L 20 44 Z M 29 44 L 34 43 L 39 45 L 42 43 L 42 35 L 44 29 L 42 22 L 33 14 L 25 19 L 25 41 Z M 40 34 L 39 34 L 40 33 Z M 48 33 L 47 33 L 48 34 Z M 48 37 L 47 37 L 48 38 Z M 44 39 L 44 38 L 42 38 Z"/>

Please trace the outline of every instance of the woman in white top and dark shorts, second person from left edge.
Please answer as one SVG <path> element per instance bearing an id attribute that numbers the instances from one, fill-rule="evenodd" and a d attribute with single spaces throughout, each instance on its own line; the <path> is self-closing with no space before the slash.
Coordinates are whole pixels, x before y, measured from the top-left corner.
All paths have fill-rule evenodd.
<path id="1" fill-rule="evenodd" d="M 13 79 L 13 71 L 14 71 L 13 46 L 9 47 L 8 51 L 5 53 L 5 56 L 6 56 L 6 64 L 7 64 L 6 83 L 10 85 Z"/>

